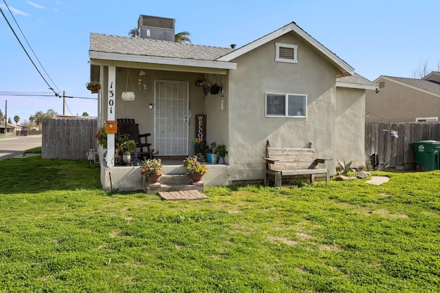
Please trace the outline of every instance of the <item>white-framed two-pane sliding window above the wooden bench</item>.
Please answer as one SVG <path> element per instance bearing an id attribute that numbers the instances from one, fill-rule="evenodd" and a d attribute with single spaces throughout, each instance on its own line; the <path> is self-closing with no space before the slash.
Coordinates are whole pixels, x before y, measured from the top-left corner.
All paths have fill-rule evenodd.
<path id="1" fill-rule="evenodd" d="M 307 95 L 266 93 L 266 117 L 306 117 Z"/>

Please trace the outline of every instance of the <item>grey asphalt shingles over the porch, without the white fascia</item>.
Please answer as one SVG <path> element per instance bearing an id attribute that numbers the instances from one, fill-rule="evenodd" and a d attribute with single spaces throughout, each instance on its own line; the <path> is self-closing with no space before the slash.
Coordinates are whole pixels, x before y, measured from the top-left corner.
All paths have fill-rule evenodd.
<path id="1" fill-rule="evenodd" d="M 234 49 L 201 45 L 181 44 L 110 34 L 90 34 L 90 50 L 115 54 L 157 56 L 214 61 Z"/>

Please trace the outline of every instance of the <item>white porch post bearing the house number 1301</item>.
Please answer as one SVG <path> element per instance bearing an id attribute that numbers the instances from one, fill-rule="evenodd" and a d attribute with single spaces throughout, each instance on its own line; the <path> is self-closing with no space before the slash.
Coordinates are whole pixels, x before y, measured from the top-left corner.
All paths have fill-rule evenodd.
<path id="1" fill-rule="evenodd" d="M 115 120 L 116 107 L 116 67 L 109 66 L 109 83 L 107 93 L 107 120 Z M 107 167 L 115 166 L 115 133 L 107 133 Z"/>

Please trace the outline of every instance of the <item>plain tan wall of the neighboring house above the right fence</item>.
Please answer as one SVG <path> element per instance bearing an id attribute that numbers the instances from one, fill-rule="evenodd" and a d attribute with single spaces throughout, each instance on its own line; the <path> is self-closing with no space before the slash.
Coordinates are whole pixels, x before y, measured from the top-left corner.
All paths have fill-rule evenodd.
<path id="1" fill-rule="evenodd" d="M 366 122 L 415 122 L 415 118 L 440 117 L 440 98 L 381 78 L 379 93 L 366 91 Z"/>

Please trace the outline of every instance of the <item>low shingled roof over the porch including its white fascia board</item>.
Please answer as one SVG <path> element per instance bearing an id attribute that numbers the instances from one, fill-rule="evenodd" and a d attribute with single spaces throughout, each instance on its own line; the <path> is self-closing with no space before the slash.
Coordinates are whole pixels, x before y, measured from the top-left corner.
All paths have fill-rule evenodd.
<path id="1" fill-rule="evenodd" d="M 217 61 L 217 58 L 231 50 L 233 49 L 91 33 L 89 56 L 92 64 L 94 59 L 102 59 L 235 69 L 236 63 Z"/>

